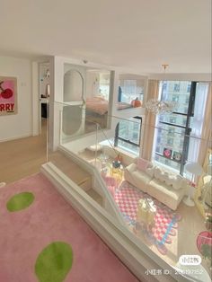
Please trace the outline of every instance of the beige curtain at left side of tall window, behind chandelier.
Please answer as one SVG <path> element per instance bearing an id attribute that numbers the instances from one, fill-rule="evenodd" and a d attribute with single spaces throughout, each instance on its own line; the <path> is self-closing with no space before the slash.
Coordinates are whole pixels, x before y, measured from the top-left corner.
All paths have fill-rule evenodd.
<path id="1" fill-rule="evenodd" d="M 149 80 L 148 81 L 148 91 L 147 91 L 147 99 L 158 99 L 159 95 L 159 84 L 158 80 Z M 154 145 L 154 135 L 155 135 L 155 119 L 156 116 L 146 110 L 146 120 L 145 120 L 145 130 L 144 130 L 144 143 L 142 148 L 141 156 L 151 161 L 153 145 Z"/>

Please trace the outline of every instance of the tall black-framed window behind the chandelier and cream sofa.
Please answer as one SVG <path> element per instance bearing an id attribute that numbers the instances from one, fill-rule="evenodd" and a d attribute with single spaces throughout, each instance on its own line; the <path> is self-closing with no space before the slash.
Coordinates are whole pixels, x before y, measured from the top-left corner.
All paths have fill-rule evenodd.
<path id="1" fill-rule="evenodd" d="M 184 172 L 184 164 L 187 162 L 190 154 L 190 146 L 194 143 L 192 138 L 192 132 L 198 131 L 198 128 L 201 128 L 201 125 L 197 123 L 197 129 L 194 128 L 193 117 L 195 117 L 194 110 L 199 110 L 199 112 L 204 112 L 205 104 L 204 102 L 198 101 L 199 107 L 195 108 L 195 101 L 197 96 L 200 95 L 202 100 L 206 100 L 208 93 L 208 84 L 201 84 L 197 82 L 178 82 L 177 84 L 172 81 L 165 82 L 167 84 L 167 91 L 164 91 L 163 86 L 162 93 L 160 93 L 162 100 L 172 100 L 172 92 L 179 91 L 178 93 L 178 102 L 179 105 L 172 112 L 172 114 L 163 114 L 157 117 L 157 124 L 155 130 L 155 153 L 154 159 L 158 163 L 163 163 L 169 165 L 172 169 L 178 170 L 181 174 Z M 161 82 L 163 84 L 163 82 Z M 190 93 L 187 91 L 190 89 Z M 181 90 L 181 91 L 180 91 Z M 175 100 L 176 93 L 174 94 Z M 200 105 L 201 104 L 201 105 Z M 202 114 L 203 115 L 203 114 Z M 201 119 L 203 121 L 203 119 Z M 200 137 L 200 134 L 199 134 Z M 163 141 L 163 142 L 160 142 Z M 169 157 L 163 154 L 164 149 L 168 146 L 170 148 L 171 154 Z M 197 145 L 192 145 L 192 150 L 197 151 Z M 180 155 L 181 159 L 176 159 L 175 155 Z M 192 152 L 192 154 L 198 155 L 199 152 Z"/>

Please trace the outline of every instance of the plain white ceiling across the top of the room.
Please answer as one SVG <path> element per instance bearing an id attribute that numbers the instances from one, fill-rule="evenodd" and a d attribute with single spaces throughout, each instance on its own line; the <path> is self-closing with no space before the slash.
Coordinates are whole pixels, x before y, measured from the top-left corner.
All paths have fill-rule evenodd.
<path id="1" fill-rule="evenodd" d="M 2 0 L 0 54 L 211 72 L 211 0 Z"/>

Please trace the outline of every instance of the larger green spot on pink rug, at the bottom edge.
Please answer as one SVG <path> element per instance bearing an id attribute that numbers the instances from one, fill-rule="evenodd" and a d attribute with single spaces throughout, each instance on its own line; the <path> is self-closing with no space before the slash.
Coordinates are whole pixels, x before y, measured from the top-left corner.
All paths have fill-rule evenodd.
<path id="1" fill-rule="evenodd" d="M 52 242 L 35 263 L 35 273 L 40 282 L 62 282 L 72 267 L 73 251 L 66 242 Z"/>

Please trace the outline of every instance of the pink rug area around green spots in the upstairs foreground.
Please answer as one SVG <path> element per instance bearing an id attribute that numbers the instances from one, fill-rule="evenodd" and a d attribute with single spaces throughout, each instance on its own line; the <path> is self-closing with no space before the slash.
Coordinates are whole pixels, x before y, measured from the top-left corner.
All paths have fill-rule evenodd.
<path id="1" fill-rule="evenodd" d="M 30 207 L 10 213 L 9 198 L 31 192 Z M 66 203 L 42 174 L 0 189 L 0 281 L 35 282 L 35 261 L 51 242 L 72 246 L 74 260 L 66 282 L 136 282 L 100 237 Z"/>

